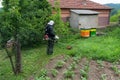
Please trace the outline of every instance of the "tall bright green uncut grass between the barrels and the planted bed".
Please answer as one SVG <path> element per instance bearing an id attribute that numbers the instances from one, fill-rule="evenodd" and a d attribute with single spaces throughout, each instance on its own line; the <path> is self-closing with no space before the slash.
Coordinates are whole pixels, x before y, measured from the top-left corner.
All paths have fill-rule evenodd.
<path id="1" fill-rule="evenodd" d="M 105 32 L 106 35 L 103 36 L 79 38 L 72 41 L 73 49 L 68 54 L 110 62 L 118 61 L 120 58 L 120 27 L 107 28 Z"/>

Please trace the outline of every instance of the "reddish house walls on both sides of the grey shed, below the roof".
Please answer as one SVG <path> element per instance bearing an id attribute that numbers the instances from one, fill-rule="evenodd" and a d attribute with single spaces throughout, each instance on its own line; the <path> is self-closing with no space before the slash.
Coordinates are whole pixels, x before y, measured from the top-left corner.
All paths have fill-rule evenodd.
<path id="1" fill-rule="evenodd" d="M 94 11 L 99 12 L 98 15 L 99 28 L 109 25 L 110 10 L 94 9 Z M 69 21 L 70 9 L 61 9 L 61 17 L 64 21 Z"/>

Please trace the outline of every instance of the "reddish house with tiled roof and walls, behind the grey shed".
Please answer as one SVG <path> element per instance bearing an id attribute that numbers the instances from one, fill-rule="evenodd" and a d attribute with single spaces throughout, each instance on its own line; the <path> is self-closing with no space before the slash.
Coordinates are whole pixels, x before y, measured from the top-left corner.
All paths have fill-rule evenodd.
<path id="1" fill-rule="evenodd" d="M 56 0 L 48 0 L 52 7 Z M 100 28 L 109 25 L 111 8 L 90 0 L 59 0 L 61 17 L 64 21 L 69 21 L 71 10 L 92 10 L 99 12 L 98 26 Z"/>

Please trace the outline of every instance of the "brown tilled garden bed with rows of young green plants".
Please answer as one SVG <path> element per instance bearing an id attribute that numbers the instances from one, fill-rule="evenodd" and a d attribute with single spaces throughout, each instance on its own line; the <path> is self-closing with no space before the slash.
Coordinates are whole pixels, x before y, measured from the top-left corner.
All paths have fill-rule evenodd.
<path id="1" fill-rule="evenodd" d="M 58 66 L 60 62 L 62 65 Z M 51 80 L 120 80 L 119 62 L 110 63 L 62 55 L 51 59 L 45 68 Z"/>

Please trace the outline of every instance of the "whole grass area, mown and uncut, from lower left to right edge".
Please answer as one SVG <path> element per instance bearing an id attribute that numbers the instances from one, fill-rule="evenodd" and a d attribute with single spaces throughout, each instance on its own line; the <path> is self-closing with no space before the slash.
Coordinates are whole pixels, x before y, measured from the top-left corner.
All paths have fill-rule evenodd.
<path id="1" fill-rule="evenodd" d="M 4 50 L 0 50 L 0 80 L 25 80 L 30 76 L 39 77 L 40 70 L 51 58 L 58 55 L 68 54 L 72 56 L 88 57 L 96 60 L 110 62 L 120 58 L 120 28 L 106 31 L 105 36 L 80 38 L 77 35 L 67 35 L 64 40 L 55 44 L 54 54 L 46 54 L 46 44 L 31 49 L 22 50 L 22 73 L 15 76 L 12 72 L 9 59 Z M 66 46 L 72 46 L 67 50 Z"/>

